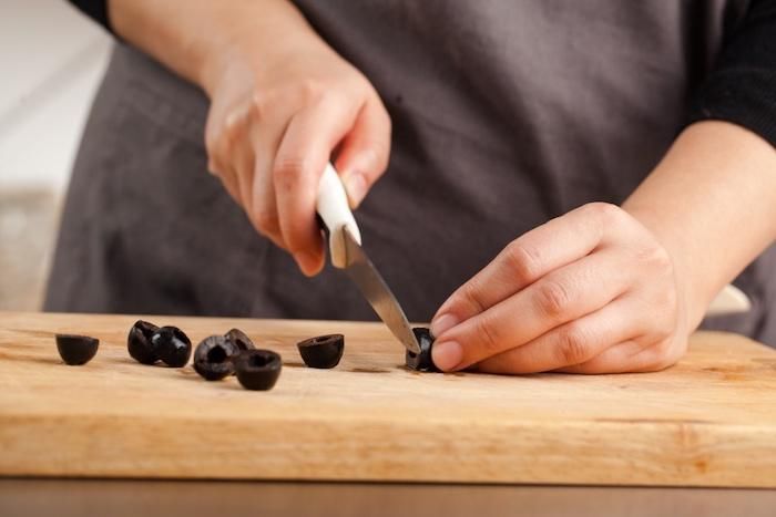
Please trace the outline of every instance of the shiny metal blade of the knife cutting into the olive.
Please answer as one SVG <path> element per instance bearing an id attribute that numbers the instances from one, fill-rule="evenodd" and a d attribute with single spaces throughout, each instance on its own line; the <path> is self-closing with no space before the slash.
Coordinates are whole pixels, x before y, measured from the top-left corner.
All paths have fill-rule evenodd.
<path id="1" fill-rule="evenodd" d="M 407 321 L 405 311 L 388 288 L 388 285 L 366 256 L 346 226 L 341 227 L 345 241 L 345 272 L 367 299 L 377 316 L 388 325 L 396 338 L 407 350 L 420 353 L 420 347 L 415 339 L 412 328 Z"/>

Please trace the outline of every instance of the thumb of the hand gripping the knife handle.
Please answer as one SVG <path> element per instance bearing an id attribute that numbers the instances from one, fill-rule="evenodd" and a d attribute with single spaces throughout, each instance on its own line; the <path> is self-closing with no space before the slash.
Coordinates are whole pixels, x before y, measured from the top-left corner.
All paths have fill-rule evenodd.
<path id="1" fill-rule="evenodd" d="M 379 99 L 367 102 L 353 130 L 340 143 L 335 168 L 339 172 L 350 208 L 357 208 L 385 173 L 390 155 L 390 117 Z"/>

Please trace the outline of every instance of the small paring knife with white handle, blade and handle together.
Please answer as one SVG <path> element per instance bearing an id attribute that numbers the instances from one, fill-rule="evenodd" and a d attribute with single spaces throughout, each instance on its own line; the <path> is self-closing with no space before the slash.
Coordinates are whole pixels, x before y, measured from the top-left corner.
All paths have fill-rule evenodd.
<path id="1" fill-rule="evenodd" d="M 350 211 L 345 187 L 331 164 L 326 165 L 320 177 L 316 210 L 327 230 L 331 265 L 343 269 L 353 280 L 396 339 L 410 352 L 420 353 L 405 311 L 361 248 L 361 232 Z"/>

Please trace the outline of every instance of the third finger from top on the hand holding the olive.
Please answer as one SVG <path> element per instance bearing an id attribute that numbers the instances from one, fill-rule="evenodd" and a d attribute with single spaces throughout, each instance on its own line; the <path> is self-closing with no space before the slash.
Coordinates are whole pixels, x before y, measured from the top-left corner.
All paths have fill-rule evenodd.
<path id="1" fill-rule="evenodd" d="M 616 343 L 644 332 L 632 322 L 634 303 L 617 299 L 601 310 L 564 323 L 528 343 L 488 358 L 477 370 L 489 373 L 534 373 L 574 368 L 600 356 Z"/>

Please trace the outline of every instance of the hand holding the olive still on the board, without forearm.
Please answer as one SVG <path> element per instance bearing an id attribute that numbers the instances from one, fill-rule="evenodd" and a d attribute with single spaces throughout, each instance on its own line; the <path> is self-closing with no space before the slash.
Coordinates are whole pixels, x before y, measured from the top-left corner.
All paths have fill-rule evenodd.
<path id="1" fill-rule="evenodd" d="M 492 373 L 654 371 L 686 350 L 672 257 L 623 209 L 593 203 L 512 241 L 441 306 L 435 364 Z"/>

